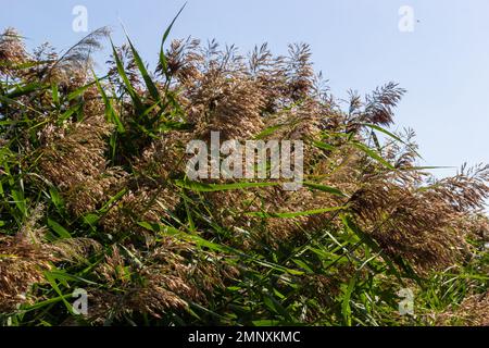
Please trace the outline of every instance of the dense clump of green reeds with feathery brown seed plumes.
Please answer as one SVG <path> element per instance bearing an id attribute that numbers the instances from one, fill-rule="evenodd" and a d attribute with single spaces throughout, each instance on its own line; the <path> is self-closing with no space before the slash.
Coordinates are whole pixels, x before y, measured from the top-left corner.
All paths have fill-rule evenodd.
<path id="1" fill-rule="evenodd" d="M 165 51 L 167 33 L 153 73 L 128 39 L 97 77 L 106 35 L 61 57 L 0 36 L 3 324 L 488 324 L 489 166 L 416 166 L 387 128 L 403 89 L 342 102 L 305 45 Z M 217 130 L 304 141 L 303 187 L 190 181 L 187 144 Z"/>

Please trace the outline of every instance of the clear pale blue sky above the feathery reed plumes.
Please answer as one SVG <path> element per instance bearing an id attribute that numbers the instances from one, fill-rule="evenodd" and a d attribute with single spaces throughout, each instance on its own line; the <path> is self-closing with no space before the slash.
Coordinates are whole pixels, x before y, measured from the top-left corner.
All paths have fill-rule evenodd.
<path id="1" fill-rule="evenodd" d="M 161 36 L 180 0 L 0 0 L 0 27 L 14 26 L 28 46 L 49 40 L 66 49 L 75 5 L 88 9 L 89 29 L 109 25 L 123 41 L 122 21 L 146 60 L 153 62 Z M 413 33 L 398 29 L 401 5 L 411 5 Z M 422 164 L 459 166 L 489 162 L 489 1 L 487 0 L 189 0 L 172 38 L 216 38 L 249 51 L 267 41 L 276 53 L 287 44 L 312 46 L 317 71 L 334 95 L 366 92 L 394 80 L 408 89 L 396 128 L 417 133 Z M 450 172 L 439 172 L 450 174 Z"/>

